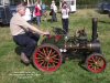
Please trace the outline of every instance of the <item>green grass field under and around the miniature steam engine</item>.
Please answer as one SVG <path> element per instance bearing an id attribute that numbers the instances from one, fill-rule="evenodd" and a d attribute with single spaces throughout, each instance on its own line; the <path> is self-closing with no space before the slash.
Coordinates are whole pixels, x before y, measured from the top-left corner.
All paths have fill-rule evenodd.
<path id="1" fill-rule="evenodd" d="M 43 21 L 42 30 L 52 31 L 52 27 L 62 28 L 61 14 L 57 17 L 58 22 L 55 23 Z M 74 34 L 77 29 L 86 28 L 90 38 L 94 17 L 99 20 L 98 33 L 107 60 L 105 72 L 94 74 L 80 68 L 79 62 L 74 60 L 66 61 L 53 74 L 43 73 L 32 65 L 25 66 L 20 62 L 20 55 L 14 52 L 16 45 L 12 41 L 9 27 L 0 27 L 0 83 L 110 83 L 110 18 L 98 13 L 95 9 L 77 10 L 69 18 L 69 34 Z"/>

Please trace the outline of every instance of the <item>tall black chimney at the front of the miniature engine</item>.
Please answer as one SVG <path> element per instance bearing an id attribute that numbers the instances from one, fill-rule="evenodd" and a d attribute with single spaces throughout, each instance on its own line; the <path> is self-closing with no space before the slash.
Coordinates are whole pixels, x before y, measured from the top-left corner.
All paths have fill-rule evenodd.
<path id="1" fill-rule="evenodd" d="M 92 18 L 92 35 L 91 35 L 91 41 L 96 42 L 98 34 L 97 34 L 97 24 L 98 24 L 98 18 Z"/>

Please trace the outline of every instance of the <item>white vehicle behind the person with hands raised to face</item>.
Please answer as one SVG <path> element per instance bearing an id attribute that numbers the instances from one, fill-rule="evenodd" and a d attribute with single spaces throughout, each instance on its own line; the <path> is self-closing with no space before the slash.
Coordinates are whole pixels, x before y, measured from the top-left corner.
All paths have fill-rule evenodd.
<path id="1" fill-rule="evenodd" d="M 76 11 L 76 0 L 61 0 L 59 1 L 59 7 L 62 8 L 62 3 L 63 2 L 67 2 L 68 7 L 70 8 L 70 12 L 75 12 Z"/>

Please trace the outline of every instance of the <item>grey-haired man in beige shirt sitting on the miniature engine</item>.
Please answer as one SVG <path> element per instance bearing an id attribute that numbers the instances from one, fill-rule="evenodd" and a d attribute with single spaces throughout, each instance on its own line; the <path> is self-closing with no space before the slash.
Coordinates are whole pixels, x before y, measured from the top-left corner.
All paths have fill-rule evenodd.
<path id="1" fill-rule="evenodd" d="M 30 63 L 30 58 L 37 44 L 40 34 L 50 34 L 50 32 L 44 32 L 37 28 L 28 23 L 22 17 L 25 14 L 25 6 L 22 3 L 16 7 L 16 13 L 12 17 L 10 21 L 10 30 L 13 37 L 13 41 L 23 46 L 21 53 L 21 60 L 25 64 Z"/>

